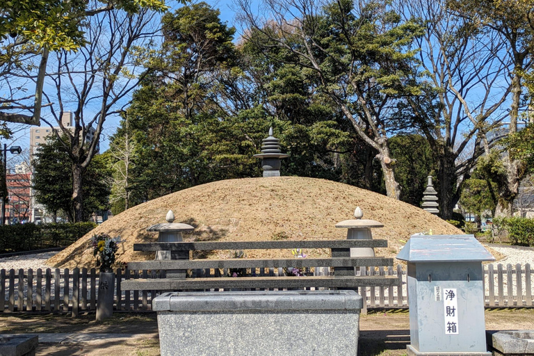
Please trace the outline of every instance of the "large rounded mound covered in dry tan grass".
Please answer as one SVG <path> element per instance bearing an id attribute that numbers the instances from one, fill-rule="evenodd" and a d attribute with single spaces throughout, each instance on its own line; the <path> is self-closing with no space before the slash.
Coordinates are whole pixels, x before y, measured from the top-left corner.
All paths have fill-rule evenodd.
<path id="1" fill-rule="evenodd" d="M 304 177 L 245 178 L 216 181 L 184 189 L 128 209 L 92 230 L 47 261 L 58 268 L 95 267 L 92 234 L 122 237 L 117 261 L 127 263 L 154 259 L 153 252 L 133 252 L 133 243 L 156 241 L 150 225 L 165 223 L 174 211 L 175 223 L 193 225 L 185 241 L 268 241 L 344 239 L 346 229 L 334 227 L 353 219 L 361 207 L 364 219 L 377 220 L 384 227 L 373 229 L 373 238 L 387 239 L 387 248 L 377 256 L 395 257 L 412 234 L 462 234 L 459 229 L 410 204 L 355 186 Z M 306 250 L 310 257 L 328 250 Z M 208 258 L 229 258 L 232 251 L 217 251 Z M 291 257 L 289 250 L 247 250 L 245 257 Z M 196 257 L 196 256 L 195 256 Z"/>

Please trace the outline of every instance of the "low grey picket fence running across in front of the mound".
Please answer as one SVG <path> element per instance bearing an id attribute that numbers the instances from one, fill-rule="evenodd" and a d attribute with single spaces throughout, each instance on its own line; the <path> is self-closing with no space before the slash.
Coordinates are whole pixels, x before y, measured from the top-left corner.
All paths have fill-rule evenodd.
<path id="1" fill-rule="evenodd" d="M 194 277 L 221 275 L 220 271 L 194 270 Z M 273 268 L 257 270 L 258 274 L 277 275 Z M 406 270 L 399 265 L 380 268 L 359 268 L 357 274 L 401 276 L 398 285 L 389 287 L 359 288 L 366 296 L 364 309 L 407 308 Z M 223 271 L 223 275 L 225 275 Z M 534 307 L 533 275 L 531 266 L 501 264 L 486 265 L 484 268 L 485 306 L 486 307 Z M 159 273 L 128 271 L 124 275 L 118 269 L 115 273 L 115 310 L 147 311 L 151 309 L 152 298 L 162 291 L 123 291 L 121 282 L 129 278 L 159 278 Z M 95 268 L 65 268 L 60 270 L 38 269 L 0 270 L 0 312 L 80 312 L 96 309 L 98 300 L 99 275 Z M 118 298 L 119 297 L 119 298 Z"/>

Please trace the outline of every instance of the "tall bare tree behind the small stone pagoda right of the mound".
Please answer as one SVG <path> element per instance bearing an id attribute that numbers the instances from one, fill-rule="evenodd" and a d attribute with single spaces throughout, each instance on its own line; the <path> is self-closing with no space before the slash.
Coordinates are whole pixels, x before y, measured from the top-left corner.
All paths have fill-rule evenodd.
<path id="1" fill-rule="evenodd" d="M 445 0 L 398 0 L 396 6 L 405 18 L 417 17 L 426 26 L 414 42 L 426 95 L 407 97 L 407 102 L 416 128 L 432 147 L 440 212 L 450 219 L 463 182 L 492 146 L 486 134 L 507 115 L 503 103 L 511 90 L 506 76 L 510 63 L 501 59 L 505 47 L 499 36 L 451 15 Z"/>

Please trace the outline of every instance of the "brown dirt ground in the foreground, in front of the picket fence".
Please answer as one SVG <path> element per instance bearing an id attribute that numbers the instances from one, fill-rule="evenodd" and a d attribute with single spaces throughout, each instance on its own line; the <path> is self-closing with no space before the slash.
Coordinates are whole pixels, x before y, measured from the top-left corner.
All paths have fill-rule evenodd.
<path id="1" fill-rule="evenodd" d="M 486 330 L 534 329 L 534 309 L 486 309 Z M 155 314 L 115 313 L 102 323 L 95 314 L 72 318 L 51 314 L 0 314 L 0 333 L 113 333 L 140 334 L 129 339 L 111 339 L 64 345 L 40 345 L 38 356 L 156 356 L 159 341 Z M 410 343 L 407 310 L 373 311 L 360 320 L 359 355 L 406 355 Z"/>

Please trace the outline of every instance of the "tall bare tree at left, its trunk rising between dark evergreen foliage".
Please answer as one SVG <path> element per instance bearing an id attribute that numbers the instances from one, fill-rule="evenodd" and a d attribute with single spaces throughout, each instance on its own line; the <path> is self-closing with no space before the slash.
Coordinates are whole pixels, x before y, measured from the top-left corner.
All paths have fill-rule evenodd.
<path id="1" fill-rule="evenodd" d="M 82 181 L 98 151 L 107 118 L 122 112 L 129 93 L 143 78 L 143 60 L 156 33 L 155 13 L 140 10 L 131 14 L 106 10 L 88 19 L 87 44 L 77 53 L 60 51 L 48 74 L 51 85 L 44 90 L 50 106 L 50 127 L 58 126 L 58 140 L 72 163 L 75 220 L 83 219 Z M 71 126 L 63 124 L 65 111 L 74 108 Z M 65 139 L 66 138 L 66 139 Z"/>

